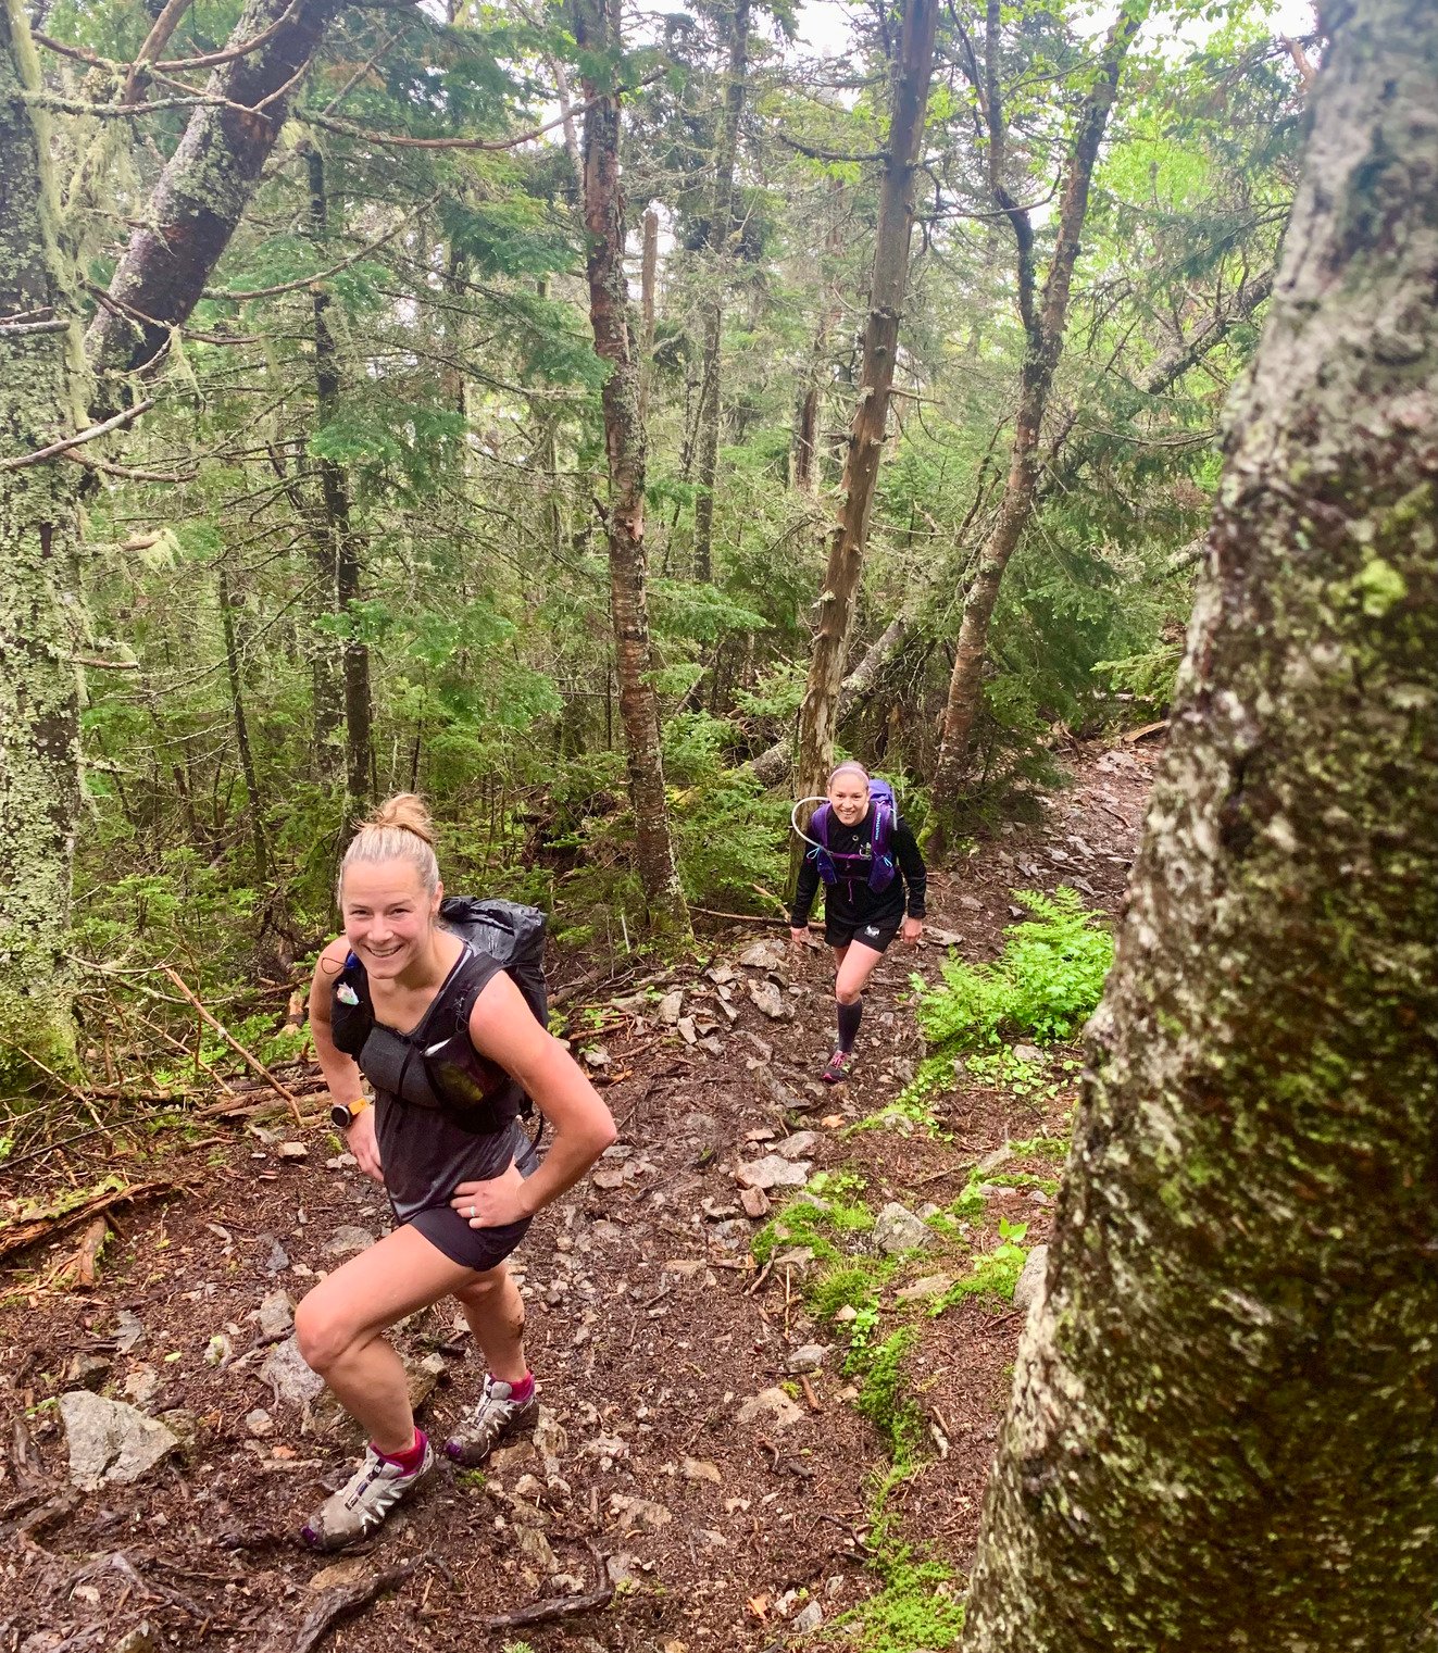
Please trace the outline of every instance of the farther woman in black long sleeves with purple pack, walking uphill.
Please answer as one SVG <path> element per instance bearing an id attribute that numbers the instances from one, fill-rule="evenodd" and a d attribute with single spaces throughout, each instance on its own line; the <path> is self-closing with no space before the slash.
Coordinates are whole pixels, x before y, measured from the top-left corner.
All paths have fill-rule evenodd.
<path id="1" fill-rule="evenodd" d="M 823 881 L 823 937 L 838 972 L 838 1043 L 821 1078 L 838 1084 L 853 1066 L 864 984 L 901 927 L 909 944 L 924 932 L 929 874 L 886 780 L 871 779 L 863 764 L 840 764 L 826 793 L 810 822 L 813 838 L 798 869 L 788 931 L 795 947 L 808 941 L 808 909 Z"/>

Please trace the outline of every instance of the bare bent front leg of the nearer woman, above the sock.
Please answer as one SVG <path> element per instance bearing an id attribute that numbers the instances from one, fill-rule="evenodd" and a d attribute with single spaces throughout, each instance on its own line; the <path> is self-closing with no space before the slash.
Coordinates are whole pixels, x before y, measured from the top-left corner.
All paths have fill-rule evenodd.
<path id="1" fill-rule="evenodd" d="M 380 1334 L 417 1309 L 459 1296 L 474 1279 L 473 1268 L 405 1225 L 337 1268 L 294 1311 L 306 1364 L 380 1451 L 405 1453 L 415 1441 L 405 1364 Z"/>

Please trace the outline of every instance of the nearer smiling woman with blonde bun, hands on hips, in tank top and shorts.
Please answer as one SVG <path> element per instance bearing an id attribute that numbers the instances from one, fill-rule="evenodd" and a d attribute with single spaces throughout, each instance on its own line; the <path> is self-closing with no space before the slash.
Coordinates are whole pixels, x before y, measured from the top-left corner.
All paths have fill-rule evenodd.
<path id="1" fill-rule="evenodd" d="M 537 1210 L 615 1139 L 610 1111 L 504 960 L 446 922 L 435 830 L 423 802 L 382 803 L 345 850 L 344 934 L 319 955 L 309 1017 L 332 1119 L 360 1169 L 385 1185 L 395 1227 L 299 1304 L 299 1349 L 369 1431 L 364 1461 L 304 1526 L 322 1551 L 367 1537 L 435 1468 L 415 1427 L 405 1367 L 385 1331 L 455 1298 L 488 1372 L 446 1441 L 459 1463 L 532 1428 L 524 1303 L 504 1260 Z M 451 909 L 478 903 L 448 903 Z M 536 921 L 532 909 L 506 903 Z M 537 969 L 537 967 L 536 967 Z M 369 1104 L 360 1081 L 374 1088 Z M 519 1116 L 531 1098 L 554 1126 L 539 1160 Z"/>

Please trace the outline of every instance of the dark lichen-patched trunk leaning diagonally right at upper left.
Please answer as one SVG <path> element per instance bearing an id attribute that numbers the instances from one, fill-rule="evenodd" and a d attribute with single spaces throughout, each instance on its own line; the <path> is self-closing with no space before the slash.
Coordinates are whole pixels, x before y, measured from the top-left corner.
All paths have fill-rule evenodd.
<path id="1" fill-rule="evenodd" d="M 250 0 L 231 43 L 266 43 L 217 68 L 205 88 L 226 102 L 197 109 L 96 311 L 86 349 L 102 375 L 155 360 L 188 317 L 230 245 L 289 112 L 293 83 L 344 0 Z M 278 25 L 278 26 L 276 26 Z M 114 388 L 101 387 L 104 405 Z"/>

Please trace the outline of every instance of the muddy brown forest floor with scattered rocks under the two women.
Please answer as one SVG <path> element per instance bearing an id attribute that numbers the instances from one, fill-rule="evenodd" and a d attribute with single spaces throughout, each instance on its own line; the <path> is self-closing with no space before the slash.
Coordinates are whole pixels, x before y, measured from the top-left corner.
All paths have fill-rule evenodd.
<path id="1" fill-rule="evenodd" d="M 89 1286 L 66 1279 L 88 1271 L 79 1223 L 0 1263 L 0 1653 L 952 1645 L 1078 1051 L 970 1063 L 931 1119 L 884 1116 L 922 1056 L 909 975 L 937 980 L 945 946 L 995 957 L 1013 889 L 1076 884 L 1116 912 L 1155 755 L 1071 755 L 1040 825 L 931 879 L 926 944 L 881 965 L 845 1086 L 815 1083 L 826 949 L 783 931 L 727 929 L 689 969 L 572 1012 L 620 1137 L 516 1256 L 536 1441 L 483 1473 L 443 1465 L 359 1554 L 296 1537 L 360 1441 L 306 1384 L 291 1304 L 385 1227 L 327 1121 L 278 1104 L 0 1172 L 7 1218 L 106 1175 L 159 1185 L 111 1210 Z M 745 1189 L 775 1175 L 818 1193 L 787 1225 L 797 1189 Z M 438 1440 L 479 1382 L 453 1308 L 397 1336 Z M 179 1445 L 131 1483 L 74 1486 L 89 1392 Z M 593 1592 L 600 1569 L 603 1605 L 486 1628 Z"/>

